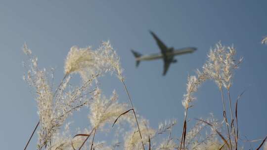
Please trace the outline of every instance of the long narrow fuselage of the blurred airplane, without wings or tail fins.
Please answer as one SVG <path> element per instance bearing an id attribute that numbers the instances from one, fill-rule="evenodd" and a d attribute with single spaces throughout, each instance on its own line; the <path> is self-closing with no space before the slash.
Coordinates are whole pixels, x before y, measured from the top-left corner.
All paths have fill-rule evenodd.
<path id="1" fill-rule="evenodd" d="M 180 55 L 180 54 L 185 54 L 185 53 L 192 53 L 196 50 L 194 47 L 186 47 L 186 48 L 180 48 L 176 49 L 172 52 L 167 52 L 167 56 L 175 56 L 175 55 Z M 140 57 L 135 58 L 136 61 L 150 61 L 150 60 L 156 60 L 156 59 L 163 59 L 163 54 L 162 53 L 155 53 L 155 54 L 150 54 L 150 55 L 142 55 Z"/>

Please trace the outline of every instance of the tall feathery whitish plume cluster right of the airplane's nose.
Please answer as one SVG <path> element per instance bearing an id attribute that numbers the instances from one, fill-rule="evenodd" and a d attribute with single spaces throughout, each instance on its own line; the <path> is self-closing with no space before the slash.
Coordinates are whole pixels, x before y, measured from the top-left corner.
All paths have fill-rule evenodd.
<path id="1" fill-rule="evenodd" d="M 222 86 L 229 89 L 232 85 L 233 71 L 238 68 L 242 62 L 241 57 L 238 61 L 233 59 L 235 55 L 235 48 L 233 46 L 227 48 L 220 42 L 216 44 L 214 49 L 210 50 L 208 61 L 203 65 L 203 71 L 197 70 L 197 77 L 195 75 L 188 76 L 186 94 L 183 96 L 182 105 L 185 109 L 191 107 L 190 103 L 196 100 L 193 97 L 198 87 L 207 79 L 213 79 L 218 87 Z"/>

